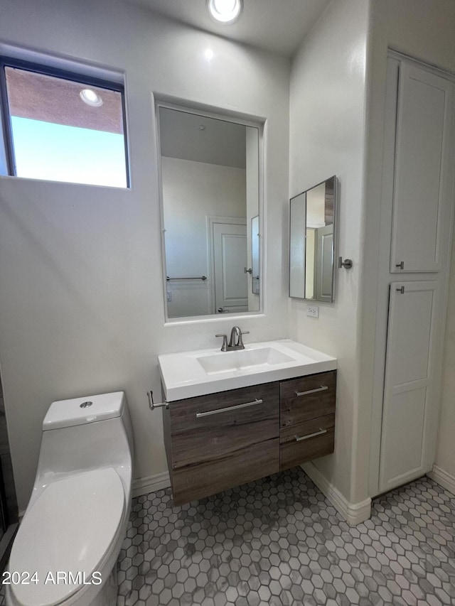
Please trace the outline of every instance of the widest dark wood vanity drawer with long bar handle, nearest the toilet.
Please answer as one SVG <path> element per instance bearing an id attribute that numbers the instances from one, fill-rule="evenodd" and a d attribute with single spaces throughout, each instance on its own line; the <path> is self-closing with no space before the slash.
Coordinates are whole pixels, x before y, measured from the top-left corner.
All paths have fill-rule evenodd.
<path id="1" fill-rule="evenodd" d="M 279 383 L 171 402 L 168 412 L 173 470 L 218 460 L 226 466 L 230 456 L 247 457 L 248 447 L 279 438 Z"/>

